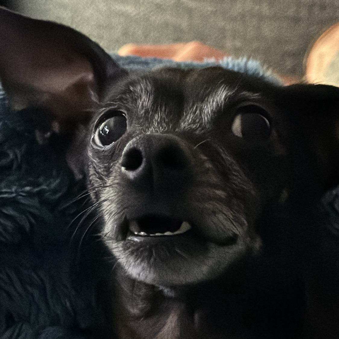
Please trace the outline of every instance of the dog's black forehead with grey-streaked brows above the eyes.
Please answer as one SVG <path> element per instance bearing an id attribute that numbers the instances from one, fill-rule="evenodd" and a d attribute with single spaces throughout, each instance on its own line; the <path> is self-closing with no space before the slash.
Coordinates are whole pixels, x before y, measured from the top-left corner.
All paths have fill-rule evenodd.
<path id="1" fill-rule="evenodd" d="M 104 105 L 126 113 L 130 124 L 152 132 L 194 129 L 241 102 L 266 100 L 268 85 L 222 67 L 163 68 L 132 76 L 111 88 Z"/>

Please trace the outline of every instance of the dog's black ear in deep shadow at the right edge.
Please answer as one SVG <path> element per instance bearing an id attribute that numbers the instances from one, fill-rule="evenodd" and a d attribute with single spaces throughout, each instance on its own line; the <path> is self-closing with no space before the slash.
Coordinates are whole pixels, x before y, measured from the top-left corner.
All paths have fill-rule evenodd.
<path id="1" fill-rule="evenodd" d="M 318 183 L 325 189 L 339 184 L 339 88 L 296 84 L 282 92 L 279 106 L 289 111 Z"/>

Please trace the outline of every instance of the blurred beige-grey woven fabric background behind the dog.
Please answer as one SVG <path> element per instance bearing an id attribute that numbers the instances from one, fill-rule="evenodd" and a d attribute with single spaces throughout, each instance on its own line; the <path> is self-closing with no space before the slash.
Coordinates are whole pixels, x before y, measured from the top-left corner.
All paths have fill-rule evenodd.
<path id="1" fill-rule="evenodd" d="M 338 0 L 7 0 L 7 5 L 72 26 L 109 52 L 128 42 L 199 40 L 297 76 L 310 44 L 339 21 Z"/>

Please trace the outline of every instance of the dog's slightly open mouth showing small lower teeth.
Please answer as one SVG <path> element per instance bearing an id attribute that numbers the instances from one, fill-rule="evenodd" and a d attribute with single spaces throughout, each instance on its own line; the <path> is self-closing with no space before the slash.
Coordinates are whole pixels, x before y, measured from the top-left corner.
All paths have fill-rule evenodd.
<path id="1" fill-rule="evenodd" d="M 128 239 L 137 237 L 178 236 L 192 229 L 187 221 L 179 219 L 149 215 L 129 221 Z"/>

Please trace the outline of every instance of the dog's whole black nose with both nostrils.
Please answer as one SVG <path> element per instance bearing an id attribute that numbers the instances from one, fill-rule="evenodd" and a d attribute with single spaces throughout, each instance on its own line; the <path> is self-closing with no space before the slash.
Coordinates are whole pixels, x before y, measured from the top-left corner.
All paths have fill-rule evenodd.
<path id="1" fill-rule="evenodd" d="M 190 177 L 190 147 L 172 135 L 150 134 L 131 140 L 125 147 L 121 167 L 135 184 L 173 188 Z"/>

